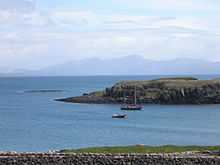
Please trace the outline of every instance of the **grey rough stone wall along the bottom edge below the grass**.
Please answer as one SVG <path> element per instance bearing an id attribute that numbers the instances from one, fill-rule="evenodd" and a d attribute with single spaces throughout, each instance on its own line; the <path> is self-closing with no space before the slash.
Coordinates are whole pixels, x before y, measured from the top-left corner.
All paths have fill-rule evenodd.
<path id="1" fill-rule="evenodd" d="M 0 154 L 0 165 L 220 165 L 218 156 L 175 154 Z"/>

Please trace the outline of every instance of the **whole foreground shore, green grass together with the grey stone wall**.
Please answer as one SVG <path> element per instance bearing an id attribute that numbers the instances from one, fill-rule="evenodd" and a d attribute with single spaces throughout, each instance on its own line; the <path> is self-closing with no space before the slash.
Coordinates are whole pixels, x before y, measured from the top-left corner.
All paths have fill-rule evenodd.
<path id="1" fill-rule="evenodd" d="M 0 165 L 219 165 L 220 146 L 115 146 L 46 153 L 0 152 Z"/>

